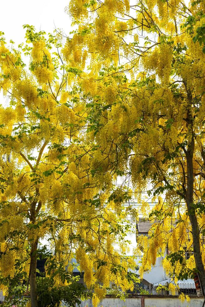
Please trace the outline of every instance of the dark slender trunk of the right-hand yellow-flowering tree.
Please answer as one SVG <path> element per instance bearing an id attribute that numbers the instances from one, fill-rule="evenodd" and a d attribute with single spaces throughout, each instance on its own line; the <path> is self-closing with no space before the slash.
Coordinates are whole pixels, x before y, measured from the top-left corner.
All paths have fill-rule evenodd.
<path id="1" fill-rule="evenodd" d="M 205 295 L 205 270 L 202 262 L 202 254 L 200 249 L 200 231 L 197 222 L 196 210 L 193 206 L 193 191 L 194 191 L 194 174 L 193 174 L 193 153 L 194 153 L 194 138 L 192 136 L 191 144 L 186 152 L 187 159 L 187 193 L 186 203 L 189 219 L 192 225 L 193 252 L 196 268 L 199 270 L 199 279 L 202 286 L 202 292 Z"/>

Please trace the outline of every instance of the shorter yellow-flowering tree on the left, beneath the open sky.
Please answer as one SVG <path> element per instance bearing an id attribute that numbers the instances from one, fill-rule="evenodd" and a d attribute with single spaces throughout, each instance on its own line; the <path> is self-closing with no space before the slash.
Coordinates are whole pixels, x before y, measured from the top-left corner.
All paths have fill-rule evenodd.
<path id="1" fill-rule="evenodd" d="M 9 299 L 14 286 L 26 284 L 32 307 L 61 299 L 75 305 L 84 293 L 72 278 L 76 257 L 97 306 L 110 281 L 124 291 L 133 286 L 121 224 L 127 191 L 118 188 L 113 197 L 113 161 L 87 133 L 95 123 L 79 84 L 86 57 L 80 66 L 77 51 L 72 60 L 67 45 L 61 52 L 57 32 L 24 28 L 26 44 L 18 49 L 1 33 L 0 87 L 10 106 L 0 113 L 0 288 Z M 36 280 L 41 256 L 43 282 Z"/>

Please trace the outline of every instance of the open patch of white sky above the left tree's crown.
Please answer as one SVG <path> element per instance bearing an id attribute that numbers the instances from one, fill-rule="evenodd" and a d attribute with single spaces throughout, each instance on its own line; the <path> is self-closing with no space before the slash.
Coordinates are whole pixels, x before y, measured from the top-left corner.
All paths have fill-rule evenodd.
<path id="1" fill-rule="evenodd" d="M 65 12 L 68 3 L 69 0 L 0 0 L 0 31 L 5 33 L 7 42 L 12 39 L 16 46 L 24 41 L 23 24 L 34 25 L 46 33 L 53 32 L 56 26 L 69 34 L 71 20 Z"/>

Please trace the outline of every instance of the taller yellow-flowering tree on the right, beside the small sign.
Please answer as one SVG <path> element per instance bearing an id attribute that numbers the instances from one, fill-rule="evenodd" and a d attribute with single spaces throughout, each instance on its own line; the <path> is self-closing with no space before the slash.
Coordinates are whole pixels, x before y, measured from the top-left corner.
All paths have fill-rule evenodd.
<path id="1" fill-rule="evenodd" d="M 63 50 L 81 69 L 86 58 L 78 84 L 99 165 L 109 160 L 110 174 L 132 183 L 139 199 L 147 190 L 156 202 L 151 212 L 142 204 L 153 225 L 140 240 L 141 275 L 168 245 L 166 273 L 177 281 L 198 272 L 202 291 L 204 10 L 201 0 L 189 6 L 172 0 L 71 0 L 68 12 L 77 30 Z M 188 260 L 185 250 L 193 252 Z"/>

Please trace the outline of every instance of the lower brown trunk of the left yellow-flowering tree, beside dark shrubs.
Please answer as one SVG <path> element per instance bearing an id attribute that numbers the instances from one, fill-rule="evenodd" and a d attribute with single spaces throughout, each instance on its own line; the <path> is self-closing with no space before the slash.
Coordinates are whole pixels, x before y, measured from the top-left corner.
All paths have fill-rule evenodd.
<path id="1" fill-rule="evenodd" d="M 37 292 L 36 292 L 37 246 L 38 246 L 38 239 L 31 244 L 30 276 L 29 276 L 31 307 L 38 307 Z"/>

